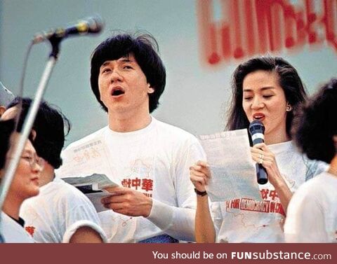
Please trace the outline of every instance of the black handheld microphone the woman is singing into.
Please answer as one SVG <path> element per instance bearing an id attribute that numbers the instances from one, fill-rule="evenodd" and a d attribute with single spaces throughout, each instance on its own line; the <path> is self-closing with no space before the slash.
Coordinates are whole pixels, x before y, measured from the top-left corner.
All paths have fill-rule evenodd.
<path id="1" fill-rule="evenodd" d="M 253 120 L 249 124 L 249 133 L 251 134 L 251 140 L 253 141 L 253 146 L 258 143 L 263 143 L 265 141 L 265 126 L 260 120 Z M 256 177 L 259 184 L 265 184 L 268 182 L 268 175 L 265 168 L 260 163 L 256 163 Z"/>

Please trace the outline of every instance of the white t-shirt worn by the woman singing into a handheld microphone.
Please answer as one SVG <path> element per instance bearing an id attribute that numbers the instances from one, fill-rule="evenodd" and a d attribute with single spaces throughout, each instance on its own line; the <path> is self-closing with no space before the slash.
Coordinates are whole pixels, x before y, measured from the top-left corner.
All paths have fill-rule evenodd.
<path id="1" fill-rule="evenodd" d="M 298 153 L 291 141 L 268 148 L 275 154 L 279 172 L 292 191 L 327 167 L 324 162 L 308 160 Z M 263 201 L 238 197 L 211 204 L 217 242 L 284 242 L 285 213 L 275 188 L 269 181 L 259 188 Z"/>

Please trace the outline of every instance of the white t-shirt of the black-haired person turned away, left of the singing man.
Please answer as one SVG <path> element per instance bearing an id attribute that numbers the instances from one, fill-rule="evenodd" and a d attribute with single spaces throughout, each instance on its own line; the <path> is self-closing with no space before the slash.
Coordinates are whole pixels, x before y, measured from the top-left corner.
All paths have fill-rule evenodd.
<path id="1" fill-rule="evenodd" d="M 69 242 L 78 228 L 88 226 L 106 240 L 100 219 L 86 195 L 61 179 L 40 188 L 39 195 L 23 202 L 20 216 L 36 242 Z"/>

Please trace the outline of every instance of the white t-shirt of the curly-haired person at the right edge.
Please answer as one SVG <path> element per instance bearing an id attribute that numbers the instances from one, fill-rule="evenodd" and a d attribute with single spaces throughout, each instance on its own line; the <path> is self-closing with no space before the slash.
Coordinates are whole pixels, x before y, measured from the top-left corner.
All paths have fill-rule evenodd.
<path id="1" fill-rule="evenodd" d="M 323 172 L 293 195 L 284 225 L 286 242 L 337 243 L 337 176 Z"/>

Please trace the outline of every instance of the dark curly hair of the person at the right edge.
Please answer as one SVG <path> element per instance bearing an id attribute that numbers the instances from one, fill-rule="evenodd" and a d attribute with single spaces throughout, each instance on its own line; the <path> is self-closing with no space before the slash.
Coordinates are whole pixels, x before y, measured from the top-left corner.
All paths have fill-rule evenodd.
<path id="1" fill-rule="evenodd" d="M 333 78 L 311 97 L 294 118 L 293 136 L 300 150 L 312 160 L 331 162 L 336 155 L 337 79 Z"/>

